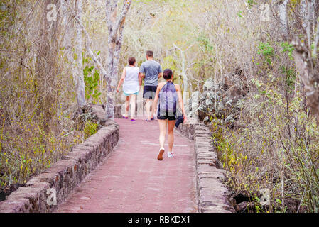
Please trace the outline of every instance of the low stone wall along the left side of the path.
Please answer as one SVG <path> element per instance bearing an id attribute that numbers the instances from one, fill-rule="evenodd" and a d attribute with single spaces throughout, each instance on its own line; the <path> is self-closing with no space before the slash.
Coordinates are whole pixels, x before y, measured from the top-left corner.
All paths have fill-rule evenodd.
<path id="1" fill-rule="evenodd" d="M 102 107 L 95 106 L 94 109 L 98 116 L 104 113 Z M 70 192 L 112 152 L 118 140 L 119 125 L 115 121 L 105 121 L 104 126 L 85 143 L 76 145 L 48 170 L 31 177 L 25 187 L 19 187 L 1 201 L 0 213 L 55 211 L 55 198 L 57 205 L 63 203 Z"/>

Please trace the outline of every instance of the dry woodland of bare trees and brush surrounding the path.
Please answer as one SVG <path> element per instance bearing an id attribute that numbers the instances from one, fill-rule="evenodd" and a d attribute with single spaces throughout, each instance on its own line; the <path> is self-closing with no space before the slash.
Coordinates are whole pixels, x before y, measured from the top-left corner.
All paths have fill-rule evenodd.
<path id="1" fill-rule="evenodd" d="M 184 94 L 229 77 L 247 90 L 234 123 L 217 109 L 205 110 L 205 123 L 227 186 L 249 196 L 250 209 L 318 212 L 318 0 L 118 1 L 119 16 L 129 6 L 111 74 L 106 2 L 0 0 L 1 189 L 26 183 L 94 134 L 98 123 L 88 113 L 79 123 L 77 109 L 107 103 L 127 59 L 139 66 L 153 50 Z"/>

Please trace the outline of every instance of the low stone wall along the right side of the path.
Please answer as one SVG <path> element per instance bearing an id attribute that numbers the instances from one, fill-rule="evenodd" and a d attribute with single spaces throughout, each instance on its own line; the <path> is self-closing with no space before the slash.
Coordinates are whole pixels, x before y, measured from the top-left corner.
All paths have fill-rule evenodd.
<path id="1" fill-rule="evenodd" d="M 188 120 L 178 131 L 195 142 L 196 187 L 200 213 L 235 212 L 229 204 L 227 187 L 222 183 L 225 172 L 220 168 L 212 145 L 210 129 L 204 123 Z"/>

